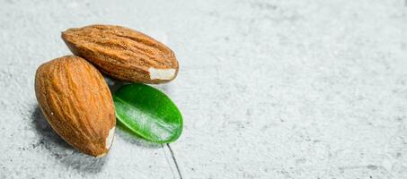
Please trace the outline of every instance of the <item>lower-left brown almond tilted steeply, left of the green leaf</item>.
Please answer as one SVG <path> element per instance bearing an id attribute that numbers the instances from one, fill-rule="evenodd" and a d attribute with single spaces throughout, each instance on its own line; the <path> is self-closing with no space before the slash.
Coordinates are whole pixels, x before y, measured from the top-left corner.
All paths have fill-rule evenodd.
<path id="1" fill-rule="evenodd" d="M 41 64 L 35 93 L 50 126 L 67 143 L 94 157 L 108 153 L 116 125 L 113 100 L 92 64 L 73 55 Z"/>

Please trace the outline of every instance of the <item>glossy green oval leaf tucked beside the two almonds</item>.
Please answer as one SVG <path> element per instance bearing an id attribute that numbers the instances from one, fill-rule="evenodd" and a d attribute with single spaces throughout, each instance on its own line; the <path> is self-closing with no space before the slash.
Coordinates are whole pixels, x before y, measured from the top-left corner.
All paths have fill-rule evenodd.
<path id="1" fill-rule="evenodd" d="M 119 122 L 147 141 L 169 143 L 180 137 L 180 110 L 160 90 L 128 84 L 114 93 L 113 100 Z"/>

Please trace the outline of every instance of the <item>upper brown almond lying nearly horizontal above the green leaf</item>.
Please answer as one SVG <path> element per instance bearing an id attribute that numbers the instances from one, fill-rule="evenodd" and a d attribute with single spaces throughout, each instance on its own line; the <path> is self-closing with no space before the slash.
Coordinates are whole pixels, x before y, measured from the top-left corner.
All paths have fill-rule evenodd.
<path id="1" fill-rule="evenodd" d="M 136 30 L 90 25 L 66 30 L 61 37 L 72 53 L 121 81 L 164 83 L 179 70 L 169 47 Z"/>

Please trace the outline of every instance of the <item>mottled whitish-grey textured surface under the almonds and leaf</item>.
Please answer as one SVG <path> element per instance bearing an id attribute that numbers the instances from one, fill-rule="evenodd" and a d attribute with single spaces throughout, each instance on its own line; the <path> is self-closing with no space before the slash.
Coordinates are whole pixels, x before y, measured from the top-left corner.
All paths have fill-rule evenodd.
<path id="1" fill-rule="evenodd" d="M 0 178 L 407 178 L 404 0 L 0 4 Z M 93 23 L 175 52 L 179 76 L 159 86 L 184 118 L 171 148 L 118 127 L 88 158 L 40 115 L 36 68 Z"/>

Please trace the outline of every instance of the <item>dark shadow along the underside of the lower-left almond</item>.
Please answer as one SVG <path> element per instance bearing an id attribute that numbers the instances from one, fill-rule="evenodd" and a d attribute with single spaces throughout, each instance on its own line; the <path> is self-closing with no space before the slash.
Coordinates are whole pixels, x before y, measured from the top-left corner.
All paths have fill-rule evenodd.
<path id="1" fill-rule="evenodd" d="M 31 114 L 31 122 L 40 138 L 37 143 L 32 144 L 32 149 L 48 150 L 49 154 L 62 165 L 67 168 L 72 167 L 80 173 L 97 174 L 102 171 L 108 157 L 93 158 L 71 147 L 59 137 L 58 133 L 54 132 L 38 105 L 34 107 Z"/>

